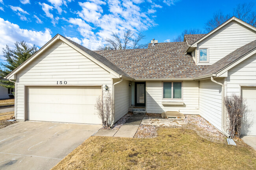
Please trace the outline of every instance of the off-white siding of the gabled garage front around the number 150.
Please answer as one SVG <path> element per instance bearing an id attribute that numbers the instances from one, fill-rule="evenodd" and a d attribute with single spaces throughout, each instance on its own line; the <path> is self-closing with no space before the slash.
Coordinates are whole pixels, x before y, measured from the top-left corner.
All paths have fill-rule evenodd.
<path id="1" fill-rule="evenodd" d="M 17 119 L 24 119 L 24 85 L 101 85 L 112 90 L 111 74 L 89 58 L 58 40 L 17 73 Z M 65 86 L 58 84 L 58 86 Z"/>

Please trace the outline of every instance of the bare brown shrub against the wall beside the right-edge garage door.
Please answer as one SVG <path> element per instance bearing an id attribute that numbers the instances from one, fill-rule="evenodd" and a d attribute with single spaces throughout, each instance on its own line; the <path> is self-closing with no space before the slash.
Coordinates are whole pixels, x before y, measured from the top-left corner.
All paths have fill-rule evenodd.
<path id="1" fill-rule="evenodd" d="M 231 138 L 240 137 L 241 121 L 243 115 L 247 113 L 247 105 L 243 97 L 233 93 L 231 96 L 224 98 L 224 105 L 229 117 L 228 131 Z"/>

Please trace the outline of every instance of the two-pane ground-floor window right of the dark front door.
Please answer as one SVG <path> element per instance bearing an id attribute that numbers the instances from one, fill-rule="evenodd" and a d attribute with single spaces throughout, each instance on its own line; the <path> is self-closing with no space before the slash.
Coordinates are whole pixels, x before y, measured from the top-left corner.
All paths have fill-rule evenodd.
<path id="1" fill-rule="evenodd" d="M 182 82 L 163 82 L 163 99 L 182 99 Z"/>

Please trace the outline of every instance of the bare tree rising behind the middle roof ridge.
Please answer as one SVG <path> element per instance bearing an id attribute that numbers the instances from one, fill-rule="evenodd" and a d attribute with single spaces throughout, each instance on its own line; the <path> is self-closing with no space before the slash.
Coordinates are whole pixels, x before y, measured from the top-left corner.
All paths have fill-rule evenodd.
<path id="1" fill-rule="evenodd" d="M 145 35 L 139 33 L 137 37 L 132 30 L 124 31 L 123 37 L 120 38 L 117 33 L 111 33 L 111 38 L 106 38 L 105 46 L 99 46 L 98 50 L 114 50 L 114 49 L 138 49 L 147 48 L 148 44 L 139 44 Z"/>

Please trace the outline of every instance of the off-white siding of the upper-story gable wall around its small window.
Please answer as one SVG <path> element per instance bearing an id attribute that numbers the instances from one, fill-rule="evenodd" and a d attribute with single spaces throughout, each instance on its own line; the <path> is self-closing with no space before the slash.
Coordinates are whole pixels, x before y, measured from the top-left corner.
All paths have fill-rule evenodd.
<path id="1" fill-rule="evenodd" d="M 197 64 L 213 64 L 225 57 L 237 48 L 256 40 L 256 33 L 235 21 L 232 21 L 221 29 L 197 44 L 197 49 L 209 49 L 209 63 L 199 63 L 199 52 L 197 53 Z"/>

